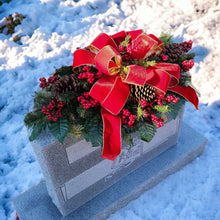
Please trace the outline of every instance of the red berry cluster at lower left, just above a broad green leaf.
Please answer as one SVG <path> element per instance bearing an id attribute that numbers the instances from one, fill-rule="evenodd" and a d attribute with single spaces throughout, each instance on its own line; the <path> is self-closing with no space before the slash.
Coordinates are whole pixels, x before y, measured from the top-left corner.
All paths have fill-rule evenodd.
<path id="1" fill-rule="evenodd" d="M 52 101 L 47 106 L 43 106 L 41 111 L 48 115 L 47 119 L 49 121 L 57 121 L 58 118 L 62 117 L 62 108 L 64 106 L 64 102 L 61 102 L 56 97 L 55 99 L 52 99 Z"/>

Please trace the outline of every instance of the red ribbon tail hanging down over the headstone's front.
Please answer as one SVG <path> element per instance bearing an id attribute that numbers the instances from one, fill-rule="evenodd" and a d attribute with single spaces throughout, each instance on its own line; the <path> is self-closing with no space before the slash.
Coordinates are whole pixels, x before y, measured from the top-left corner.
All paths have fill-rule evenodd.
<path id="1" fill-rule="evenodd" d="M 102 119 L 102 158 L 113 161 L 121 153 L 121 118 L 102 108 Z"/>

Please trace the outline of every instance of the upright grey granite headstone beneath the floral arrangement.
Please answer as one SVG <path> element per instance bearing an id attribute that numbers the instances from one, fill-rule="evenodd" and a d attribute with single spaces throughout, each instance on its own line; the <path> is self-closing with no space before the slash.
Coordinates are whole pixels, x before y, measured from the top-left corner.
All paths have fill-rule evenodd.
<path id="1" fill-rule="evenodd" d="M 122 142 L 122 150 L 115 161 L 101 158 L 101 147 L 92 147 L 84 139 L 68 135 L 63 144 L 53 141 L 53 136 L 43 132 L 31 142 L 41 167 L 49 196 L 63 216 L 127 176 L 147 161 L 152 160 L 179 138 L 183 116 L 180 111 L 175 120 L 168 121 L 157 129 L 147 143 L 140 140 L 138 132 L 132 134 L 134 146 Z"/>

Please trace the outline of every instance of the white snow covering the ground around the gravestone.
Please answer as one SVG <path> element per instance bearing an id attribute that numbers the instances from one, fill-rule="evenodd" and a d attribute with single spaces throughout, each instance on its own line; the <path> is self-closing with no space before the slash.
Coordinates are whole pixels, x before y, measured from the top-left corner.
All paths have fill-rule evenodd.
<path id="1" fill-rule="evenodd" d="M 186 105 L 184 121 L 209 141 L 204 153 L 109 220 L 220 219 L 220 2 L 218 0 L 12 0 L 0 20 L 14 12 L 20 44 L 0 34 L 0 219 L 15 219 L 12 198 L 43 176 L 23 123 L 33 107 L 39 78 L 71 65 L 76 47 L 100 32 L 143 29 L 176 42 L 192 39 L 191 70 L 201 93 L 199 111 Z"/>

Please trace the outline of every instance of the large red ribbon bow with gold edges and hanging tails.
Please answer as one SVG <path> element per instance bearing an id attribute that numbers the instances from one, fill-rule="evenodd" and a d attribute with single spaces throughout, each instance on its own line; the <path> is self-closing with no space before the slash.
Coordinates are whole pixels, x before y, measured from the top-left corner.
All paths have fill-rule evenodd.
<path id="1" fill-rule="evenodd" d="M 102 157 L 110 160 L 121 152 L 121 118 L 119 112 L 129 96 L 129 85 L 144 86 L 146 83 L 163 93 L 167 90 L 184 96 L 198 109 L 198 98 L 191 87 L 179 86 L 180 67 L 177 64 L 157 63 L 145 69 L 139 65 L 122 66 L 118 45 L 125 37 L 131 36 L 137 50 L 132 51 L 133 59 L 144 59 L 153 53 L 160 53 L 163 42 L 154 35 L 146 35 L 142 30 L 119 32 L 111 37 L 100 34 L 88 47 L 74 52 L 73 68 L 80 65 L 94 65 L 105 75 L 90 90 L 90 96 L 102 106 L 103 152 Z"/>

